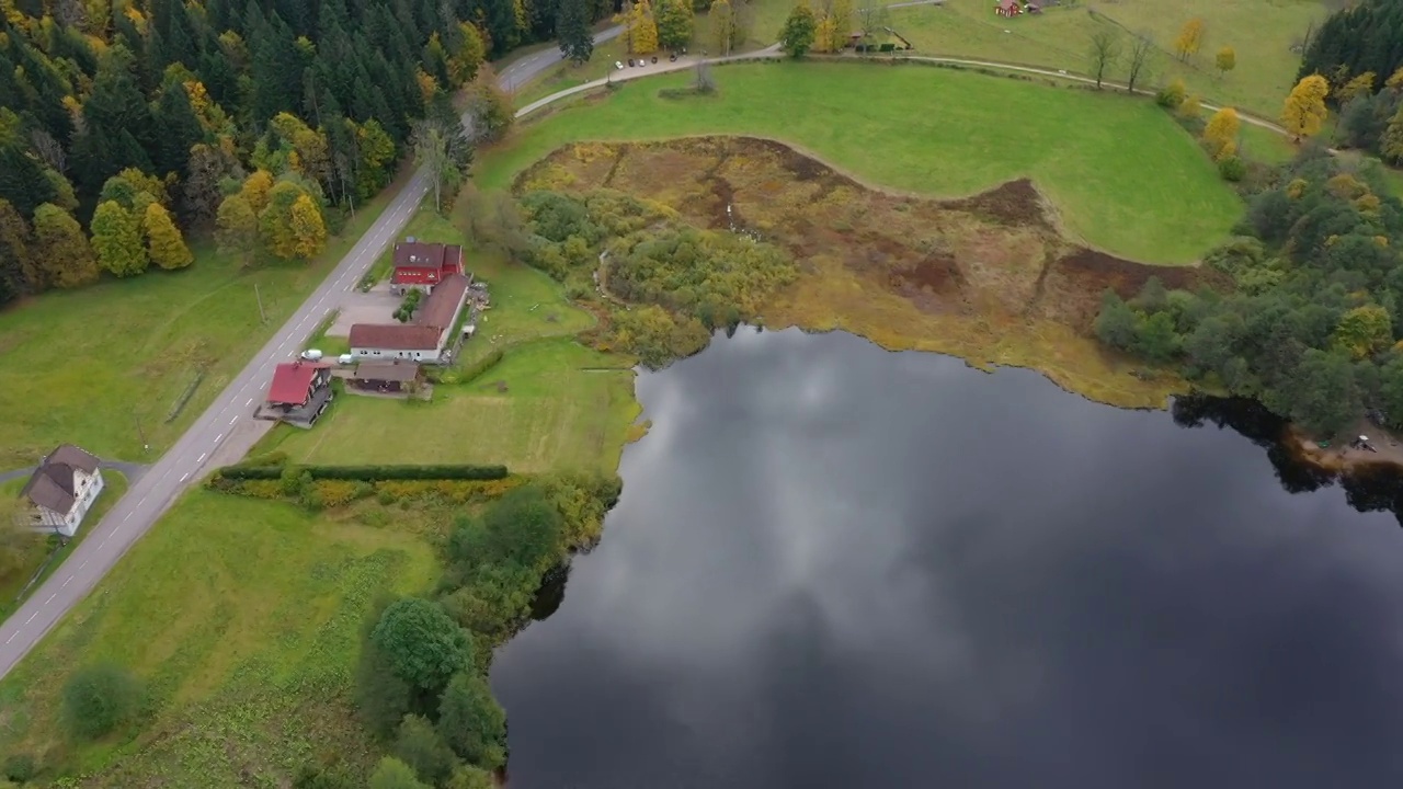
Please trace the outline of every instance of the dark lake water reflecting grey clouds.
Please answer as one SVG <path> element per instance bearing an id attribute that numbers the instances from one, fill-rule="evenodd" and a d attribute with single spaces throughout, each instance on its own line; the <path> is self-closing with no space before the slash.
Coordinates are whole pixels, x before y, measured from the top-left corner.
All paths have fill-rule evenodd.
<path id="1" fill-rule="evenodd" d="M 638 396 L 603 542 L 492 668 L 512 789 L 1403 785 L 1403 529 L 1358 511 L 1397 486 L 1250 407 L 748 329 Z"/>

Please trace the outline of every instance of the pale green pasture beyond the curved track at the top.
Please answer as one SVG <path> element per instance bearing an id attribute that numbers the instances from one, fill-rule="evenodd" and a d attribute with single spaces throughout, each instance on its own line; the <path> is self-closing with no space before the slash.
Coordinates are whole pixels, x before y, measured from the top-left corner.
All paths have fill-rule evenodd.
<path id="1" fill-rule="evenodd" d="M 770 0 L 766 0 L 770 1 Z M 943 6 L 915 6 L 890 11 L 891 27 L 911 39 L 915 55 L 1003 60 L 1026 66 L 1086 73 L 1089 41 L 1097 29 L 1149 35 L 1156 53 L 1148 81 L 1166 84 L 1183 77 L 1190 91 L 1214 104 L 1240 107 L 1274 121 L 1295 83 L 1301 58 L 1291 51 L 1312 21 L 1327 8 L 1316 0 L 1087 0 L 1048 7 L 1038 15 L 998 17 L 989 0 L 946 0 Z M 1204 20 L 1198 53 L 1180 62 L 1174 39 L 1184 22 Z M 1007 32 L 1005 32 L 1007 31 Z M 1237 65 L 1228 73 L 1214 66 L 1223 46 Z M 1125 79 L 1124 59 L 1107 74 Z"/>

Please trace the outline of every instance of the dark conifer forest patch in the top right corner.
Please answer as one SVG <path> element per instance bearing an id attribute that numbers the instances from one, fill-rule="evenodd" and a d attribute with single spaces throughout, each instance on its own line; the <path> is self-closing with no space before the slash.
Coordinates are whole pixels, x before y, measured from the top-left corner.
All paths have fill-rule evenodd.
<path id="1" fill-rule="evenodd" d="M 1331 14 L 1309 37 L 1299 77 L 1320 74 L 1340 112 L 1338 145 L 1403 164 L 1403 0 Z"/>

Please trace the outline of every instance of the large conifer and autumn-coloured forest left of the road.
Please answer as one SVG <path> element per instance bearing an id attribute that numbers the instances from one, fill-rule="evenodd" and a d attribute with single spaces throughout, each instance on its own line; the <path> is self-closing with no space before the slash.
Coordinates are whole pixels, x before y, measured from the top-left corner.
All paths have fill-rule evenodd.
<path id="1" fill-rule="evenodd" d="M 481 63 L 550 38 L 556 18 L 553 0 L 0 10 L 0 305 L 182 268 L 205 240 L 250 261 L 314 256 L 393 178 L 421 119 L 463 147 L 459 88 L 501 115 Z"/>

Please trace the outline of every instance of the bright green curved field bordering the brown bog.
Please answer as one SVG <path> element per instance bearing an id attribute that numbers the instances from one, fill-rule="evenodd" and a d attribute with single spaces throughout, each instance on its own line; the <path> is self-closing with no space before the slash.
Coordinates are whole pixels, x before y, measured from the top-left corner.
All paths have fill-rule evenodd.
<path id="1" fill-rule="evenodd" d="M 1031 177 L 1087 244 L 1184 264 L 1226 237 L 1242 201 L 1194 139 L 1145 100 L 925 66 L 731 65 L 717 97 L 665 100 L 690 74 L 624 83 L 518 129 L 478 160 L 481 188 L 571 140 L 770 136 L 868 184 L 961 197 Z"/>

